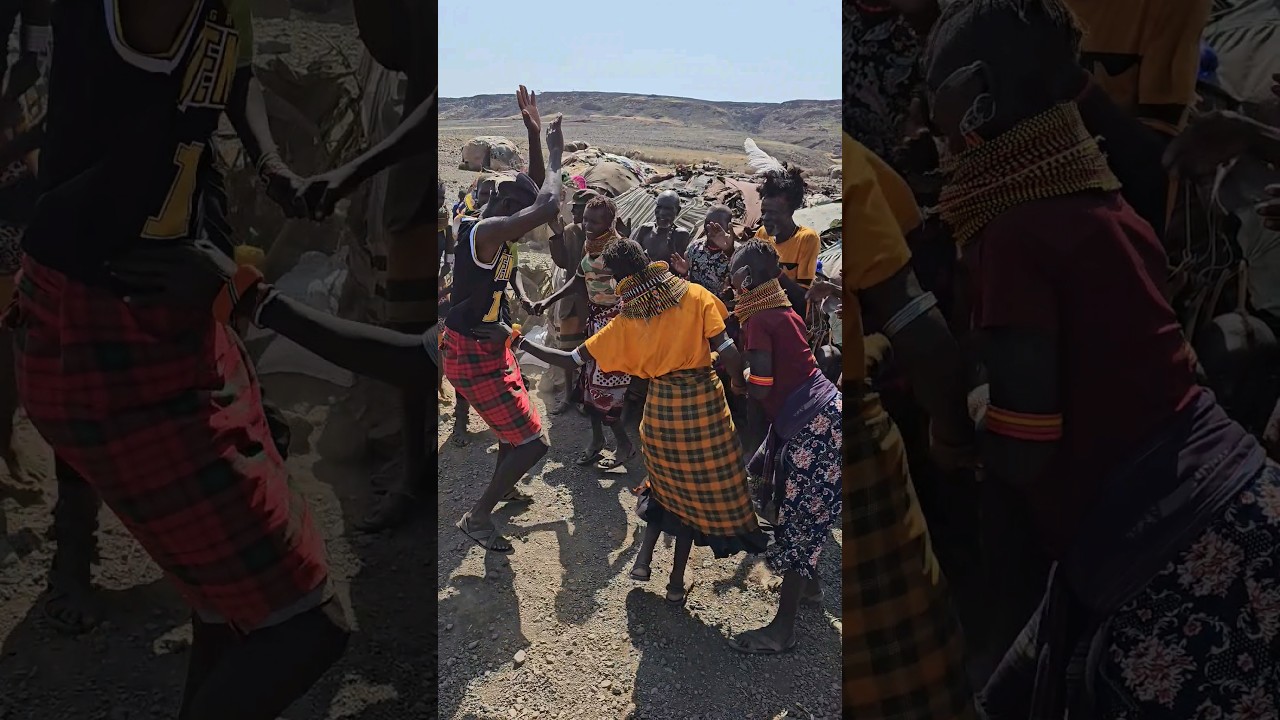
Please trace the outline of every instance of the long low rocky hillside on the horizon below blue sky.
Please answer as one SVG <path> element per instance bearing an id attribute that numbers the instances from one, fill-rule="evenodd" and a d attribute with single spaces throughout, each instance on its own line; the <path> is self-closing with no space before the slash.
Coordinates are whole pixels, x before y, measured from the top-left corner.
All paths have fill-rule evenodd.
<path id="1" fill-rule="evenodd" d="M 714 102 L 660 95 L 623 92 L 545 92 L 538 96 L 544 115 L 671 123 L 690 128 L 758 135 L 801 147 L 818 149 L 840 137 L 838 100 L 788 102 Z M 442 122 L 513 118 L 511 95 L 440 99 Z"/>

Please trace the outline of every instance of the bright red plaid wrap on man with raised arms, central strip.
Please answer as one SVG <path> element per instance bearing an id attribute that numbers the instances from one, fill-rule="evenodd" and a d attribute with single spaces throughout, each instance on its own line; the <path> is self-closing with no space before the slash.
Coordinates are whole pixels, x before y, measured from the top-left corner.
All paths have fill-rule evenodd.
<path id="1" fill-rule="evenodd" d="M 543 420 L 509 346 L 444 328 L 440 363 L 453 389 L 484 418 L 499 441 L 525 445 L 543 434 Z"/>

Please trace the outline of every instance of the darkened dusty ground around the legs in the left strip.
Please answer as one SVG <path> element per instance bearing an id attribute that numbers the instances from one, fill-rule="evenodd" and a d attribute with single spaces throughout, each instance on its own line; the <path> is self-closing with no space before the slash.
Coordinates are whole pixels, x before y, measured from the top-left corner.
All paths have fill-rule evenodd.
<path id="1" fill-rule="evenodd" d="M 340 597 L 357 628 L 346 657 L 285 716 L 288 720 L 416 720 L 429 717 L 435 653 L 430 607 L 435 532 L 420 523 L 396 534 L 348 534 L 366 510 L 369 464 L 320 457 L 328 402 L 337 388 L 305 378 L 264 380 L 291 416 L 289 466 L 329 541 Z M 104 510 L 102 562 L 108 623 L 64 637 L 44 620 L 40 596 L 52 542 L 46 539 L 56 496 L 49 448 L 29 425 L 15 443 L 23 470 L 0 470 L 0 503 L 19 559 L 0 568 L 0 719 L 172 720 L 178 706 L 191 633 L 183 602 L 138 544 Z"/>

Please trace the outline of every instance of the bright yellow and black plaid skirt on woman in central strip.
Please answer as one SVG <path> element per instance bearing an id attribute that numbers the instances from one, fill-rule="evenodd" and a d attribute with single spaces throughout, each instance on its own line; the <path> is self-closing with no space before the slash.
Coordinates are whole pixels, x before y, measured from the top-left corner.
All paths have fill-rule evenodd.
<path id="1" fill-rule="evenodd" d="M 640 442 L 649 470 L 645 521 L 691 532 L 717 557 L 764 552 L 768 537 L 755 521 L 742 446 L 712 368 L 653 379 Z"/>

